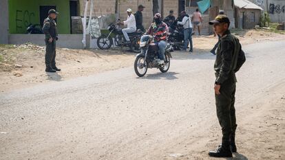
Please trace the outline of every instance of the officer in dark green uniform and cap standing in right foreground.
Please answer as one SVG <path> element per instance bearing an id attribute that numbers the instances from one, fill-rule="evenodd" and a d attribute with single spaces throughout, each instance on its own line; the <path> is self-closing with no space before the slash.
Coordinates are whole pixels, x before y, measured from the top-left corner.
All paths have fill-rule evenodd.
<path id="1" fill-rule="evenodd" d="M 218 15 L 209 22 L 215 33 L 221 36 L 215 59 L 215 105 L 218 120 L 222 127 L 222 145 L 210 151 L 210 157 L 233 157 L 235 146 L 235 73 L 242 67 L 246 58 L 239 40 L 229 31 L 229 18 Z"/>

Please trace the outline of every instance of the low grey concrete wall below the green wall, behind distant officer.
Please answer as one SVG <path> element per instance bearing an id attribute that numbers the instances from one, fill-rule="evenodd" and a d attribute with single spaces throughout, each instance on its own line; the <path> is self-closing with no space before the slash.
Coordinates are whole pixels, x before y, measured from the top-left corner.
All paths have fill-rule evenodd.
<path id="1" fill-rule="evenodd" d="M 60 34 L 59 41 L 56 41 L 56 47 L 83 49 L 82 34 Z M 86 36 L 87 47 L 90 46 L 90 36 Z M 45 45 L 43 34 L 9 34 L 9 44 L 20 45 L 23 43 L 33 43 L 36 45 Z"/>

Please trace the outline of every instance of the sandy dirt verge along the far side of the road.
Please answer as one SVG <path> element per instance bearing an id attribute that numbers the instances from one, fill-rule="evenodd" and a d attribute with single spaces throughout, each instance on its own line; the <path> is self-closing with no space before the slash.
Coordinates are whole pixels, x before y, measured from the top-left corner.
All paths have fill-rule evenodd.
<path id="1" fill-rule="evenodd" d="M 242 45 L 285 40 L 285 34 L 257 30 L 234 31 Z M 193 54 L 210 54 L 217 43 L 212 36 L 193 36 Z M 89 76 L 114 69 L 131 67 L 136 54 L 126 49 L 56 49 L 56 65 L 62 69 L 58 74 L 45 73 L 45 48 L 34 45 L 0 45 L 0 92 L 32 87 L 50 81 L 64 81 Z"/>

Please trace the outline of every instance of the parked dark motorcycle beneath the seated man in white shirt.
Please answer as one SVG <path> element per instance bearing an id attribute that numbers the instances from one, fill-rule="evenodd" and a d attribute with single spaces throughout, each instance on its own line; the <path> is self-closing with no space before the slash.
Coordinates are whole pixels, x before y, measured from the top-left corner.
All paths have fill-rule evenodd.
<path id="1" fill-rule="evenodd" d="M 117 23 L 111 23 L 107 29 L 109 30 L 109 34 L 103 34 L 97 39 L 97 46 L 100 49 L 109 49 L 113 43 L 119 47 L 129 47 L 131 52 L 140 53 L 140 36 L 142 36 L 143 32 L 137 30 L 134 33 L 129 33 L 129 40 L 131 44 L 126 44 L 125 36 L 123 35 L 122 29 L 118 27 Z M 113 42 L 114 38 L 114 42 Z"/>

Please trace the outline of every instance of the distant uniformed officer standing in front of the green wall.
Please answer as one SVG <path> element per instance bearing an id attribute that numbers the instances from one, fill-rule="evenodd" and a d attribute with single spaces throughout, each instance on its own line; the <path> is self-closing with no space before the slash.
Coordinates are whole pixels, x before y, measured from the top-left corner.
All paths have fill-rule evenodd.
<path id="1" fill-rule="evenodd" d="M 51 9 L 48 11 L 48 17 L 43 22 L 43 33 L 45 34 L 45 71 L 56 72 L 61 69 L 56 67 L 56 41 L 58 40 L 56 19 L 58 12 Z"/>

